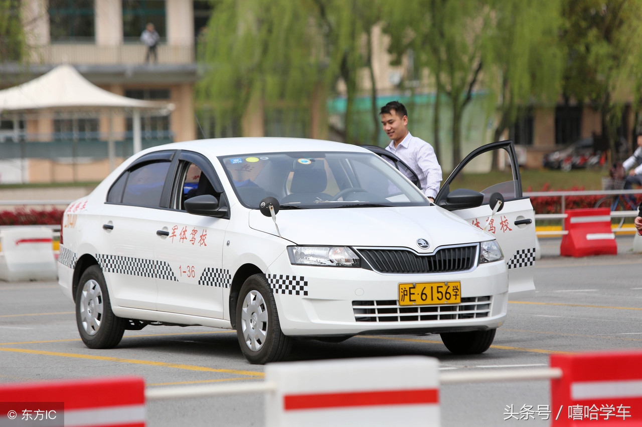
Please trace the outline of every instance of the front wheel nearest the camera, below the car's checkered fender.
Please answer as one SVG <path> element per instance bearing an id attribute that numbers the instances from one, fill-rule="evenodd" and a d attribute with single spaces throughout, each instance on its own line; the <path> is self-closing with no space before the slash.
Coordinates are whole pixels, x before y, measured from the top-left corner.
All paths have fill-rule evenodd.
<path id="1" fill-rule="evenodd" d="M 236 303 L 236 336 L 251 364 L 282 360 L 290 351 L 290 337 L 283 335 L 270 283 L 264 274 L 245 280 Z"/>

